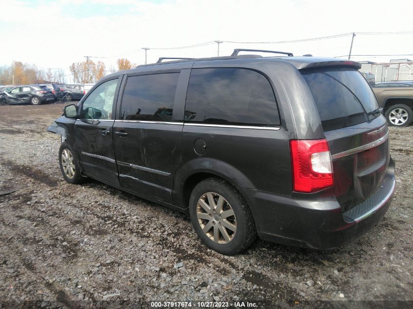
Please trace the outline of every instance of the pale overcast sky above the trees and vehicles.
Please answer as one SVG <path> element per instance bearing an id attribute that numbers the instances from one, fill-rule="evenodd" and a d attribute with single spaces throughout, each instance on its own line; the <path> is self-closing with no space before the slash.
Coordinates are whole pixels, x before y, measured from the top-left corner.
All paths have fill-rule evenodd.
<path id="1" fill-rule="evenodd" d="M 208 41 L 291 41 L 349 32 L 413 31 L 412 1 L 318 0 L 0 0 L 0 65 L 21 61 L 63 68 L 84 56 L 106 63 L 118 58 L 143 64 L 142 47 L 168 48 Z M 351 36 L 279 44 L 220 44 L 234 48 L 293 52 L 294 55 L 348 54 Z M 352 54 L 413 54 L 413 34 L 357 35 Z M 159 57 L 213 57 L 217 44 L 149 50 Z M 400 57 L 354 57 L 387 62 Z"/>

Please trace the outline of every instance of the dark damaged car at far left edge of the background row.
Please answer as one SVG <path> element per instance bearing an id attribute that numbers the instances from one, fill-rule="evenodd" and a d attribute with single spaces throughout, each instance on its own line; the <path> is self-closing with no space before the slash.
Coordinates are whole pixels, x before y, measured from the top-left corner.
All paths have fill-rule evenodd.
<path id="1" fill-rule="evenodd" d="M 31 103 L 39 105 L 53 100 L 52 91 L 46 86 L 39 85 L 17 86 L 0 93 L 0 102 L 3 104 Z"/>

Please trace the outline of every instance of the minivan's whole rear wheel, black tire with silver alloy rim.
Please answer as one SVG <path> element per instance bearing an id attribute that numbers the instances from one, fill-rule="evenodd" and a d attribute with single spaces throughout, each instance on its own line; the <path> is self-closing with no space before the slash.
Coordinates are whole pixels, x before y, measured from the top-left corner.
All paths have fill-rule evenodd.
<path id="1" fill-rule="evenodd" d="M 208 178 L 197 184 L 189 200 L 189 214 L 201 241 L 219 253 L 237 254 L 257 238 L 250 208 L 224 180 Z"/>

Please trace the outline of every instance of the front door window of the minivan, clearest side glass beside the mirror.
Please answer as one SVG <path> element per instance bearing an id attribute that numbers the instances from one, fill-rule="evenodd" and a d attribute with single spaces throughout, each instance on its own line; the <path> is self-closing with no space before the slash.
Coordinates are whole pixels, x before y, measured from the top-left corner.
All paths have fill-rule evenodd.
<path id="1" fill-rule="evenodd" d="M 81 119 L 111 119 L 118 79 L 100 84 L 86 98 Z"/>

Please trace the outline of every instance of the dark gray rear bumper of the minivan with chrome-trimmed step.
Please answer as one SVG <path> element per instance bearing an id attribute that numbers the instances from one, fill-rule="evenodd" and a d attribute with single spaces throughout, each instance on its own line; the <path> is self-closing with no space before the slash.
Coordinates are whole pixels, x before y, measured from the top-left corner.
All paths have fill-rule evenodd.
<path id="1" fill-rule="evenodd" d="M 270 242 L 330 249 L 345 246 L 374 227 L 385 215 L 394 192 L 394 162 L 383 183 L 360 205 L 342 212 L 333 188 L 314 194 L 280 196 L 240 189 L 254 216 L 258 235 Z"/>

